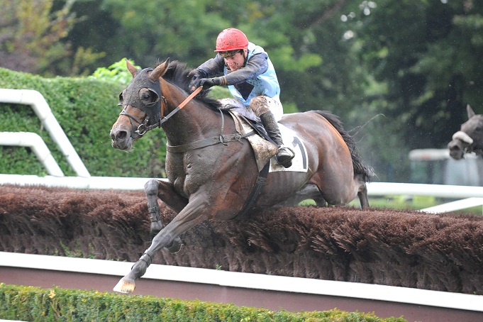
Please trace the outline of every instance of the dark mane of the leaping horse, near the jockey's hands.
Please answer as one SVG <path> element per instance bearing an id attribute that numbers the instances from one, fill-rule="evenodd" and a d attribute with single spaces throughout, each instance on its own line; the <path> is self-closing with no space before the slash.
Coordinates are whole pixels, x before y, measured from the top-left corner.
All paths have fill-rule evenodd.
<path id="1" fill-rule="evenodd" d="M 193 69 L 187 67 L 184 62 L 173 60 L 172 62 L 170 62 L 170 65 L 168 66 L 167 71 L 162 76 L 162 78 L 165 79 L 167 82 L 176 85 L 187 93 L 191 93 L 189 83 L 191 82 L 192 71 Z M 211 109 L 218 109 L 221 104 L 218 100 L 212 99 L 211 97 L 207 96 L 209 91 L 209 89 L 202 90 L 198 95 L 196 95 L 196 99 L 202 101 L 206 106 Z"/>

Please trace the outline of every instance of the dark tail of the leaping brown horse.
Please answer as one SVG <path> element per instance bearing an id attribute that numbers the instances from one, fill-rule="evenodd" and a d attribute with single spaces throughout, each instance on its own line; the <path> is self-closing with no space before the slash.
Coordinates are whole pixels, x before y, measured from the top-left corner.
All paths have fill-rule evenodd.
<path id="1" fill-rule="evenodd" d="M 354 174 L 360 174 L 362 176 L 362 179 L 364 179 L 365 182 L 371 182 L 372 177 L 374 177 L 374 170 L 372 170 L 372 167 L 367 167 L 362 162 L 362 159 L 359 155 L 359 150 L 355 145 L 355 141 L 352 138 L 352 136 L 349 133 L 347 133 L 347 131 L 344 130 L 342 126 L 342 122 L 340 121 L 340 118 L 329 111 L 314 111 L 314 112 L 326 118 L 326 120 L 332 124 L 335 130 L 337 130 L 338 133 L 340 133 L 340 135 L 344 139 L 345 144 L 349 148 L 350 156 L 352 157 L 352 167 L 354 167 Z"/>

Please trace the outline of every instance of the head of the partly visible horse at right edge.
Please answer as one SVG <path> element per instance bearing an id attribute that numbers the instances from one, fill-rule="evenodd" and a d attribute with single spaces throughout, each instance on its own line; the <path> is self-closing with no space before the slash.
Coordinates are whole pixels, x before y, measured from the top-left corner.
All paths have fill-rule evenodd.
<path id="1" fill-rule="evenodd" d="M 468 121 L 462 123 L 460 131 L 453 134 L 448 143 L 450 156 L 460 160 L 465 152 L 483 152 L 483 115 L 475 114 L 470 105 L 466 106 Z"/>

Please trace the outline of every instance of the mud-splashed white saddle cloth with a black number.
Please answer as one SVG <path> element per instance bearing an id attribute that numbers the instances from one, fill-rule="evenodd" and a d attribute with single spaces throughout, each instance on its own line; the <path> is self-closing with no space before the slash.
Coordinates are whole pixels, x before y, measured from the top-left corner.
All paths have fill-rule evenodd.
<path id="1" fill-rule="evenodd" d="M 236 131 L 240 134 L 246 134 L 253 131 L 253 127 L 248 122 L 245 117 L 241 116 L 237 111 L 229 111 L 230 115 L 235 121 Z M 277 154 L 277 147 L 262 138 L 260 135 L 250 135 L 247 137 L 248 142 L 252 146 L 253 152 L 255 153 L 255 160 L 257 162 L 258 172 L 260 172 L 263 167 L 270 160 L 270 172 L 277 171 L 294 171 L 294 172 L 307 172 L 309 165 L 307 162 L 307 150 L 304 143 L 296 136 L 295 132 L 291 129 L 285 127 L 283 124 L 278 123 L 280 133 L 282 134 L 282 140 L 284 145 L 292 148 L 295 152 L 295 157 L 292 159 L 292 166 L 285 168 L 277 163 L 275 160 L 275 155 Z"/>

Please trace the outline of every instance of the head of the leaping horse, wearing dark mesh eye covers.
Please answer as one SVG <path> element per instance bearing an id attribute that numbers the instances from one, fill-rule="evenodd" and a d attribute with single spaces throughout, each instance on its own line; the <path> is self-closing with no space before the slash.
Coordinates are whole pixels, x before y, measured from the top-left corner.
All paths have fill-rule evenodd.
<path id="1" fill-rule="evenodd" d="M 133 75 L 131 84 L 119 94 L 119 104 L 123 110 L 111 129 L 113 148 L 130 150 L 133 142 L 147 131 L 160 126 L 162 99 L 160 77 L 165 74 L 168 60 L 144 70 L 137 70 L 126 60 L 129 72 Z"/>

